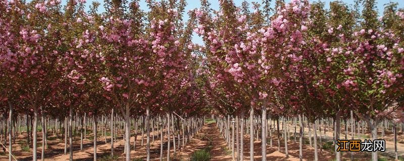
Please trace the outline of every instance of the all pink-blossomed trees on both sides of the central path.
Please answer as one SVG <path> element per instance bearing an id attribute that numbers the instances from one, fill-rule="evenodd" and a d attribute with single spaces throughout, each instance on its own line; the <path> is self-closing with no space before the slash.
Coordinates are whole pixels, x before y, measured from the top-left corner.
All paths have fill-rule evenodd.
<path id="1" fill-rule="evenodd" d="M 160 122 L 157 116 L 168 114 L 169 122 L 172 112 L 189 119 L 213 111 L 237 120 L 249 112 L 251 160 L 255 118 L 263 156 L 268 117 L 302 124 L 304 114 L 314 129 L 316 120 L 332 117 L 335 140 L 342 117 L 366 121 L 372 139 L 381 120 L 403 121 L 404 11 L 397 4 L 378 18 L 374 0 L 332 2 L 330 9 L 307 0 L 276 1 L 274 8 L 263 1 L 252 3 L 254 12 L 227 0 L 214 11 L 203 0 L 185 22 L 185 1 L 146 2 L 148 12 L 138 1 L 105 1 L 104 13 L 98 3 L 86 12 L 85 1 L 0 2 L 0 110 L 9 114 L 8 127 L 17 115 L 32 117 L 34 160 L 39 116 L 67 117 L 72 138 L 75 116 L 93 116 L 97 127 L 98 116 L 118 112 L 126 160 L 131 119 L 141 115 L 149 135 L 150 115 Z M 191 43 L 193 32 L 205 45 Z"/>

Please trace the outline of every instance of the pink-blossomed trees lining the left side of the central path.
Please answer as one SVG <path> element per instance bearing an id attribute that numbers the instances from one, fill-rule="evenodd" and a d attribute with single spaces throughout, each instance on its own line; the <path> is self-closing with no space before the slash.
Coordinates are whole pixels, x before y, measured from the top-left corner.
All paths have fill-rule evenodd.
<path id="1" fill-rule="evenodd" d="M 99 118 L 115 110 L 124 120 L 130 160 L 131 119 L 146 115 L 149 138 L 150 114 L 157 121 L 166 113 L 188 119 L 204 112 L 199 61 L 190 54 L 194 14 L 183 21 L 185 1 L 147 1 L 148 12 L 138 1 L 105 1 L 104 13 L 97 11 L 96 2 L 85 11 L 85 3 L 0 2 L 1 111 L 9 113 L 3 117 L 9 119 L 8 127 L 23 115 L 27 124 L 32 118 L 33 160 L 39 116 L 59 123 L 67 117 L 72 160 L 74 118 L 93 117 L 96 136 Z M 149 139 L 146 144 L 149 160 Z M 95 146 L 96 137 L 94 160 Z"/>

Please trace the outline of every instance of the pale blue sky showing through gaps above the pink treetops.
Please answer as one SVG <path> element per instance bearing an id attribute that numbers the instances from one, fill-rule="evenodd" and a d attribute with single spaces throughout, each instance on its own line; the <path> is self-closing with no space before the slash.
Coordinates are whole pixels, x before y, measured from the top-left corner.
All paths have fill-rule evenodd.
<path id="1" fill-rule="evenodd" d="M 63 1 L 62 3 L 66 3 L 66 1 Z M 102 5 L 100 5 L 99 11 L 104 12 L 104 7 L 103 7 L 104 1 L 103 0 L 87 0 L 87 4 L 89 5 L 93 1 L 97 1 L 100 4 L 102 4 Z M 211 7 L 214 10 L 219 9 L 218 0 L 208 0 L 208 1 L 212 4 Z M 262 2 L 262 0 L 245 0 L 245 1 L 247 1 L 250 4 L 251 4 L 251 2 L 260 2 L 260 3 Z M 273 1 L 275 1 L 275 0 L 273 0 Z M 309 0 L 309 1 L 310 2 L 318 2 L 319 0 L 315 0 L 315 1 L 314 0 Z M 325 2 L 326 8 L 328 8 L 329 3 L 333 2 L 333 1 L 334 0 L 321 0 L 321 2 Z M 342 1 L 342 2 L 344 2 L 346 4 L 348 4 L 348 5 L 354 5 L 354 0 L 340 0 L 340 1 Z M 234 3 L 236 4 L 236 6 L 240 6 L 242 2 L 243 2 L 243 0 L 234 0 Z M 285 2 L 289 3 L 290 0 L 285 0 Z M 403 0 L 376 0 L 376 2 L 377 2 L 377 10 L 379 11 L 379 13 L 383 12 L 384 4 L 388 4 L 389 2 L 398 3 L 398 8 L 404 8 L 404 1 Z M 187 6 L 185 8 L 185 12 L 187 12 L 188 10 L 193 10 L 195 8 L 200 7 L 200 1 L 199 0 L 187 0 L 187 3 L 188 4 L 187 4 Z M 142 10 L 148 11 L 148 8 L 146 6 L 145 0 L 141 0 L 139 5 L 140 5 L 140 8 Z M 273 6 L 274 6 L 274 3 L 272 4 L 272 7 Z M 187 15 L 185 14 L 185 16 L 187 16 Z M 185 17 L 184 19 L 187 20 L 187 17 Z M 197 44 L 203 44 L 202 39 L 199 36 L 195 35 L 195 34 L 192 36 L 192 42 L 197 43 Z"/>

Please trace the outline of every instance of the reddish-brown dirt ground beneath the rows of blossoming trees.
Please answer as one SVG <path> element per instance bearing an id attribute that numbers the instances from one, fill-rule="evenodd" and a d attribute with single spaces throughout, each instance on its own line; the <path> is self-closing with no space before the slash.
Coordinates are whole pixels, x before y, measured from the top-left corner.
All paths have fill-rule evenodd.
<path id="1" fill-rule="evenodd" d="M 343 127 L 342 127 L 343 129 Z M 291 128 L 292 130 L 292 128 Z M 290 131 L 293 132 L 293 131 Z M 323 132 L 323 131 L 322 131 Z M 49 132 L 50 133 L 50 132 Z M 100 132 L 99 132 L 100 133 Z M 134 132 L 133 132 L 134 133 Z M 323 133 L 324 134 L 324 133 Z M 327 136 L 326 139 L 331 139 L 332 138 L 332 131 L 326 132 Z M 273 138 L 273 146 L 270 147 L 268 144 L 267 148 L 267 160 L 298 160 L 298 155 L 299 155 L 299 147 L 298 147 L 298 142 L 294 142 L 293 139 L 293 133 L 290 134 L 290 140 L 288 141 L 288 151 L 289 151 L 289 157 L 286 157 L 285 155 L 285 147 L 284 147 L 284 140 L 281 137 L 281 143 L 280 143 L 280 151 L 277 151 L 277 136 L 275 133 L 272 133 L 272 138 Z M 308 128 L 305 129 L 305 135 L 306 139 L 308 136 Z M 312 134 L 313 135 L 313 134 Z M 318 134 L 319 135 L 319 134 Z M 152 134 L 150 134 L 152 136 Z M 344 131 L 341 130 L 341 138 L 344 138 Z M 324 136 L 323 136 L 324 137 Z M 391 132 L 386 132 L 386 135 L 383 137 L 383 139 L 386 139 L 386 152 L 381 153 L 383 156 L 391 156 L 391 150 L 394 147 L 394 144 L 392 142 L 392 134 Z M 40 159 L 41 156 L 41 133 L 38 133 L 38 160 Z M 92 138 L 92 134 L 87 134 L 87 138 L 84 139 L 83 142 L 83 151 L 80 150 L 80 137 L 79 135 L 74 138 L 73 141 L 73 157 L 74 160 L 92 160 L 93 156 L 93 142 L 90 140 Z M 348 133 L 348 138 L 350 138 L 350 135 Z M 45 160 L 69 160 L 69 151 L 67 154 L 64 154 L 64 138 L 62 138 L 61 135 L 59 137 L 55 135 L 48 136 L 48 147 L 45 148 Z M 144 158 L 146 156 L 146 134 L 144 134 L 144 145 L 141 146 L 141 134 L 138 134 L 137 136 L 137 145 L 136 145 L 136 150 L 133 150 L 133 143 L 134 143 L 134 136 L 131 137 L 131 158 L 133 159 L 139 159 L 139 158 Z M 13 153 L 16 156 L 18 160 L 32 160 L 32 152 L 27 151 L 27 149 L 23 150 L 22 146 L 25 144 L 26 140 L 26 133 L 23 133 L 22 135 L 19 135 L 18 138 L 16 139 L 16 142 L 13 144 Z M 111 138 L 107 136 L 107 143 L 105 142 L 105 137 L 104 136 L 98 136 L 97 137 L 97 158 L 98 160 L 113 160 L 111 159 L 110 152 L 111 152 L 111 144 L 110 144 Z M 298 139 L 297 139 L 298 140 Z M 404 136 L 399 135 L 398 136 L 398 141 L 404 140 Z M 152 139 L 150 138 L 150 142 Z M 269 138 L 268 138 L 269 141 Z M 322 140 L 324 142 L 324 139 Z M 167 149 L 167 137 L 163 138 L 163 147 L 164 149 Z M 306 140 L 307 142 L 307 140 Z M 404 154 L 404 142 L 398 143 L 398 151 L 399 155 Z M 177 143 L 178 144 L 178 143 Z M 182 143 L 181 143 L 182 144 Z M 189 160 L 192 153 L 198 149 L 203 149 L 210 146 L 211 149 L 211 155 L 212 159 L 211 160 L 232 160 L 231 156 L 231 149 L 228 149 L 226 147 L 226 142 L 222 135 L 219 132 L 219 129 L 216 125 L 216 123 L 206 123 L 203 128 L 201 128 L 198 133 L 188 142 L 188 144 L 185 145 L 184 148 L 182 149 L 177 149 L 176 150 L 176 155 L 174 156 L 174 150 L 173 150 L 173 142 L 171 142 L 171 157 L 173 160 Z M 256 140 L 254 142 L 254 158 L 255 160 L 261 160 L 261 140 Z M 235 147 L 236 148 L 236 147 Z M 31 149 L 32 150 L 32 147 Z M 69 148 L 68 148 L 69 150 Z M 3 150 L 0 149 L 0 151 L 3 152 Z M 124 160 L 124 142 L 123 142 L 123 137 L 122 137 L 122 132 L 119 131 L 117 135 L 117 141 L 114 143 L 114 153 L 117 155 L 117 157 L 114 160 Z M 157 131 L 156 131 L 156 137 L 155 141 L 150 144 L 150 158 L 151 160 L 159 160 L 160 157 L 160 138 L 157 137 Z M 379 153 L 380 154 L 380 153 Z M 236 155 L 236 154 L 235 154 Z M 332 150 L 322 150 L 320 152 L 319 149 L 319 160 L 332 160 L 334 157 L 334 153 Z M 163 152 L 163 159 L 166 159 L 167 153 L 166 151 Z M 237 156 L 237 155 L 236 155 Z M 355 152 L 354 153 L 355 160 L 370 160 L 371 153 L 369 152 Z M 304 160 L 314 160 L 314 148 L 310 147 L 309 143 L 305 143 L 303 146 L 303 158 Z M 350 160 L 350 152 L 344 152 L 342 153 L 342 158 L 344 160 Z M 2 160 L 8 160 L 8 155 L 7 153 L 0 153 L 0 161 Z M 249 160 L 249 135 L 244 135 L 244 160 Z M 393 160 L 391 157 L 388 158 L 388 160 Z"/>

